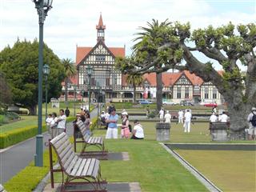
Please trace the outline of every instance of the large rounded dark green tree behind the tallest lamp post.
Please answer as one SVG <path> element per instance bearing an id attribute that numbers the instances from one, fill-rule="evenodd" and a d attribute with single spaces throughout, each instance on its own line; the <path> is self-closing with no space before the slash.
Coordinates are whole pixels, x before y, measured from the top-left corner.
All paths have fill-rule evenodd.
<path id="1" fill-rule="evenodd" d="M 44 63 L 50 66 L 48 77 L 48 101 L 58 98 L 62 93 L 64 67 L 58 56 L 46 44 L 43 50 Z M 6 46 L 0 52 L 0 70 L 6 76 L 10 85 L 15 106 L 30 110 L 30 114 L 37 114 L 38 104 L 38 41 L 24 41 L 19 39 L 13 47 Z M 43 90 L 45 87 L 43 86 Z M 45 93 L 43 91 L 43 93 Z M 45 98 L 43 96 L 43 98 Z"/>

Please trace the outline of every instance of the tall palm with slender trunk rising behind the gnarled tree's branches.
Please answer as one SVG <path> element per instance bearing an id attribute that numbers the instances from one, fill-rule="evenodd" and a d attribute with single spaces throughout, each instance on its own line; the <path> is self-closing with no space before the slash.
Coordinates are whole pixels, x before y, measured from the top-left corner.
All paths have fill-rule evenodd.
<path id="1" fill-rule="evenodd" d="M 161 36 L 161 31 L 165 30 L 167 27 L 170 26 L 170 22 L 168 21 L 168 19 L 166 19 L 166 21 L 159 23 L 158 20 L 154 20 L 153 22 L 147 22 L 148 27 L 140 27 L 141 30 L 143 30 L 142 32 L 138 33 L 137 35 L 138 38 L 135 38 L 134 41 L 138 41 L 134 46 L 133 46 L 133 50 L 134 50 L 134 54 L 136 55 L 136 52 L 140 52 L 144 49 L 143 47 L 143 40 L 145 40 L 146 38 L 150 40 L 150 42 L 156 42 L 159 38 L 165 38 Z M 153 47 L 154 49 L 154 47 Z M 152 51 L 152 53 L 156 53 L 157 51 Z M 157 55 L 152 55 L 152 57 L 157 57 Z M 157 63 L 154 66 L 154 69 L 161 69 L 162 68 L 163 63 Z M 162 73 L 156 73 L 156 80 L 157 80 L 157 107 L 158 110 L 161 109 L 162 106 Z"/>

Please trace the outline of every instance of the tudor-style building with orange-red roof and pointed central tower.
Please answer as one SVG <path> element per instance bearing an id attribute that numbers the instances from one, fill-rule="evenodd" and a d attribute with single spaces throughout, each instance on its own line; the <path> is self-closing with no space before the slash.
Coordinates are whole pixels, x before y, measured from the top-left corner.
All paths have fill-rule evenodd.
<path id="1" fill-rule="evenodd" d="M 74 88 L 77 85 L 77 98 L 81 100 L 84 93 L 84 101 L 88 101 L 88 82 L 87 67 L 92 66 L 94 71 L 91 75 L 90 89 L 91 98 L 98 98 L 97 85 L 102 87 L 106 102 L 132 102 L 134 93 L 132 85 L 126 83 L 126 75 L 114 69 L 115 58 L 125 57 L 125 47 L 106 46 L 105 30 L 102 15 L 100 15 L 97 30 L 97 43 L 93 47 L 76 47 L 76 66 L 78 74 L 69 79 L 69 99 L 74 99 Z M 144 82 L 136 88 L 136 99 L 146 98 L 155 101 L 156 95 L 156 74 L 144 74 Z M 64 94 L 64 84 L 63 94 Z M 212 101 L 220 104 L 221 95 L 211 82 L 203 82 L 202 78 L 189 71 L 178 73 L 162 73 L 162 98 L 172 99 L 173 102 L 182 100 Z M 102 95 L 100 96 L 102 97 Z M 63 96 L 61 97 L 61 99 Z M 100 98 L 101 99 L 101 98 Z M 102 100 L 102 99 L 101 99 Z"/>

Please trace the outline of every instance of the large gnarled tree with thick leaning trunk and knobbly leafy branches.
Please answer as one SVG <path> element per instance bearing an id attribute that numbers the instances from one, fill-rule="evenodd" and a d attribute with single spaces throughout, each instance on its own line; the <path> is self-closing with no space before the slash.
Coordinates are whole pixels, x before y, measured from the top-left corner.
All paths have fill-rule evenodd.
<path id="1" fill-rule="evenodd" d="M 160 30 L 158 37 L 142 38 L 137 50 L 137 62 L 132 62 L 134 65 L 122 62 L 122 69 L 144 73 L 153 69 L 160 60 L 170 69 L 190 70 L 204 82 L 212 82 L 227 103 L 231 139 L 244 138 L 244 130 L 248 126 L 246 117 L 251 107 L 256 106 L 256 25 L 250 23 L 235 27 L 229 23 L 216 28 L 208 26 L 191 33 L 189 23 L 182 25 L 174 22 Z M 179 58 L 180 51 L 186 64 L 170 60 Z M 208 62 L 203 62 L 194 52 L 202 53 Z M 212 61 L 222 67 L 222 74 L 214 69 Z M 245 66 L 246 75 L 242 75 L 239 65 Z"/>

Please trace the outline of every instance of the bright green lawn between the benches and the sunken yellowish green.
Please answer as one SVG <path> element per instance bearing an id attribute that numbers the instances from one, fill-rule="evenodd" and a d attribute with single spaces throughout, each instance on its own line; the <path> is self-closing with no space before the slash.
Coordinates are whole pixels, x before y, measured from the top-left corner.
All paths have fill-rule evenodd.
<path id="1" fill-rule="evenodd" d="M 105 131 L 95 131 L 103 135 Z M 106 148 L 127 151 L 130 161 L 101 161 L 102 177 L 107 182 L 139 182 L 142 191 L 207 191 L 175 158 L 152 140 L 106 140 Z M 54 174 L 61 182 L 61 174 Z"/>

